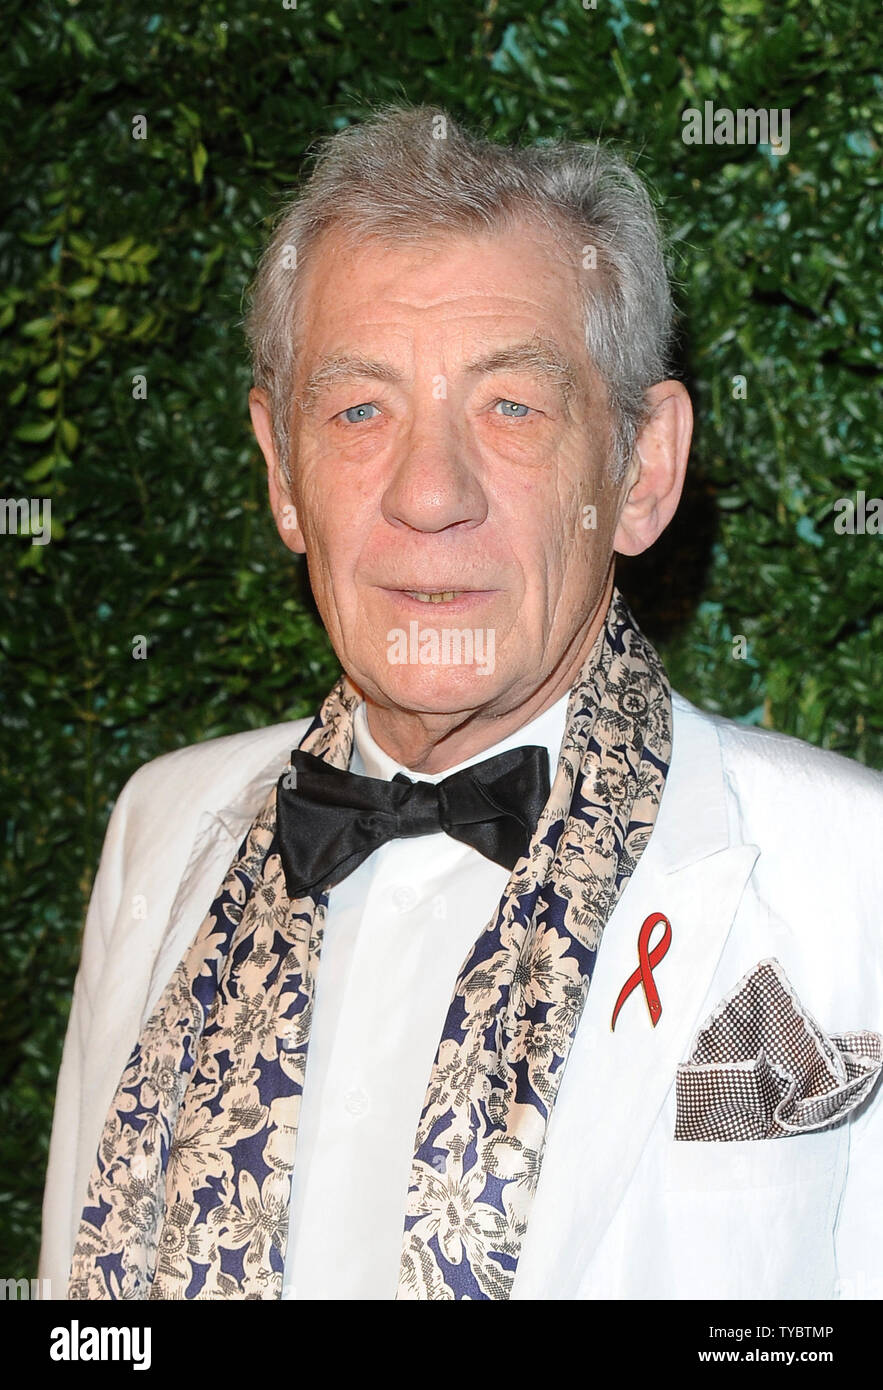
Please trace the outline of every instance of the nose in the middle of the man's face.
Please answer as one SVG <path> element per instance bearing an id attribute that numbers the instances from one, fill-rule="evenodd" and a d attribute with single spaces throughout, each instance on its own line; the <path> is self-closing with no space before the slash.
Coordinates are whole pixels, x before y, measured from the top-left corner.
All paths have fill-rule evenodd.
<path id="1" fill-rule="evenodd" d="M 481 525 L 488 502 L 477 460 L 448 411 L 434 404 L 434 410 L 414 418 L 399 442 L 381 512 L 392 525 L 414 531 Z"/>

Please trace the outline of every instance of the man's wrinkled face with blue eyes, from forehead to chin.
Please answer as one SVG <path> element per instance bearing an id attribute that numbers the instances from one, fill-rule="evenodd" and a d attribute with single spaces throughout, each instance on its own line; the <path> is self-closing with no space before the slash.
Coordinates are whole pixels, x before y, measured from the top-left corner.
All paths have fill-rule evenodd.
<path id="1" fill-rule="evenodd" d="M 306 549 L 341 664 L 381 706 L 503 714 L 567 688 L 588 653 L 622 489 L 584 346 L 587 274 L 527 225 L 356 250 L 330 235 L 313 253 L 291 418 L 298 527 L 286 498 L 277 521 Z M 444 660 L 445 630 L 464 628 L 484 669 Z"/>

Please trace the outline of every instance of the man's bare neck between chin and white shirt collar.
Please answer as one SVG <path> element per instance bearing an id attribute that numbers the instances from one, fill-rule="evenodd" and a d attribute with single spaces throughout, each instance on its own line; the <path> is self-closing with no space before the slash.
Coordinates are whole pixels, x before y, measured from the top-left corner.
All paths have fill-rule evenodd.
<path id="1" fill-rule="evenodd" d="M 610 569 L 601 602 L 574 634 L 553 669 L 545 673 L 527 698 L 516 695 L 508 705 L 503 696 L 474 710 L 427 714 L 421 710 L 378 705 L 366 695 L 371 738 L 389 758 L 420 773 L 444 773 L 466 762 L 467 758 L 492 748 L 502 738 L 538 719 L 573 688 L 605 624 L 612 592 Z"/>

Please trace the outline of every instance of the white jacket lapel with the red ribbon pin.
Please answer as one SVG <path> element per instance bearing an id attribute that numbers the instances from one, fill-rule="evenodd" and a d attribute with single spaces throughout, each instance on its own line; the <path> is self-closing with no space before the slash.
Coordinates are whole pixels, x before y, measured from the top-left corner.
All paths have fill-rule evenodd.
<path id="1" fill-rule="evenodd" d="M 674 703 L 674 749 L 659 817 L 608 922 L 588 999 L 549 1123 L 513 1298 L 573 1298 L 647 1145 L 677 1065 L 713 999 L 708 991 L 756 862 L 730 845 L 713 723 Z M 654 970 L 662 1015 L 654 1029 L 641 986 L 610 1030 L 617 995 L 638 966 L 638 931 L 652 912 L 672 924 Z M 661 938 L 658 927 L 651 941 Z"/>

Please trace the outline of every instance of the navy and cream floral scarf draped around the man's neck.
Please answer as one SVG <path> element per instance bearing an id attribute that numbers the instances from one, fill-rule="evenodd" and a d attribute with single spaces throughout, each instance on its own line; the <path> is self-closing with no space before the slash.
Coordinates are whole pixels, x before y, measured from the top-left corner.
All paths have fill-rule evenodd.
<path id="1" fill-rule="evenodd" d="M 359 701 L 341 677 L 300 748 L 348 767 Z M 453 986 L 402 1194 L 398 1298 L 509 1298 L 601 934 L 670 749 L 665 670 L 615 589 L 546 806 Z M 288 899 L 274 837 L 275 787 L 120 1081 L 71 1298 L 281 1295 L 328 894 Z"/>

